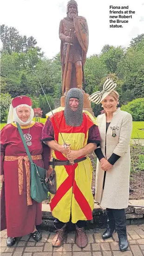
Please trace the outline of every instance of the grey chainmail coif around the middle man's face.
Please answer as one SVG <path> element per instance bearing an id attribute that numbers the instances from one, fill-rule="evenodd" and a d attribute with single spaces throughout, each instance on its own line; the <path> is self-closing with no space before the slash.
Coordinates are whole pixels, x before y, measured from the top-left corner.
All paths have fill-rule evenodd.
<path id="1" fill-rule="evenodd" d="M 79 100 L 79 106 L 76 111 L 73 111 L 69 106 L 70 98 L 76 98 Z M 81 89 L 72 88 L 68 91 L 65 97 L 65 122 L 69 126 L 80 126 L 83 121 L 83 102 L 84 102 L 84 95 Z"/>

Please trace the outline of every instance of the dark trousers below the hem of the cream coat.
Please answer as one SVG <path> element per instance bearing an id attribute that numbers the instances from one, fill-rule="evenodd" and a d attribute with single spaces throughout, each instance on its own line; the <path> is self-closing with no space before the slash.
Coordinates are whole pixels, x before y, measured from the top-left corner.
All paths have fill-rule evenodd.
<path id="1" fill-rule="evenodd" d="M 109 229 L 116 229 L 118 236 L 126 235 L 126 217 L 124 209 L 106 208 L 107 226 Z"/>

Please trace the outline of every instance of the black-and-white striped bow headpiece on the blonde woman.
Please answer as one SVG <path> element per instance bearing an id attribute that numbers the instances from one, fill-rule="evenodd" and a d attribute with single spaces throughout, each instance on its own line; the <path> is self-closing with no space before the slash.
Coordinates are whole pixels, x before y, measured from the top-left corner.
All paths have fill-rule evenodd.
<path id="1" fill-rule="evenodd" d="M 101 92 L 97 91 L 93 94 L 91 94 L 88 97 L 88 100 L 91 102 L 94 102 L 96 104 L 99 104 L 101 101 L 105 99 L 105 97 L 111 93 L 116 88 L 117 84 L 114 83 L 111 79 L 107 78 L 105 80 L 105 83 L 103 85 L 103 90 Z"/>

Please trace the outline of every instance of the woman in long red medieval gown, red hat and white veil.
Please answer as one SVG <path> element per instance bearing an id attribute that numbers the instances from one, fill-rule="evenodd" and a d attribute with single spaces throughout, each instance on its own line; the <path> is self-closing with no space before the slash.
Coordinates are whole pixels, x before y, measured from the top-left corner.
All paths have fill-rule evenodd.
<path id="1" fill-rule="evenodd" d="M 1 230 L 7 229 L 7 246 L 15 243 L 15 237 L 30 233 L 35 241 L 42 238 L 36 229 L 42 222 L 41 203 L 30 196 L 30 165 L 16 125 L 20 124 L 33 162 L 48 170 L 50 149 L 41 142 L 43 124 L 34 122 L 33 115 L 31 99 L 18 96 L 13 99 L 7 125 L 1 130 Z"/>

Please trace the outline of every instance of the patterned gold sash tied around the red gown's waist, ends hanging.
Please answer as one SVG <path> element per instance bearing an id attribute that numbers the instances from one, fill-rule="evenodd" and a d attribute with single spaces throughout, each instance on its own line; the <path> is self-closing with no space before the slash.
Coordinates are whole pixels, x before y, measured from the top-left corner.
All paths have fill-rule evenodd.
<path id="1" fill-rule="evenodd" d="M 31 155 L 32 160 L 42 159 L 42 155 Z M 32 205 L 31 198 L 31 174 L 30 174 L 30 162 L 28 156 L 10 156 L 5 155 L 5 161 L 16 161 L 18 160 L 18 174 L 19 174 L 19 194 L 22 195 L 23 189 L 23 166 L 22 161 L 25 161 L 26 168 L 26 197 L 27 197 L 27 205 Z"/>

